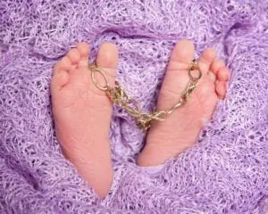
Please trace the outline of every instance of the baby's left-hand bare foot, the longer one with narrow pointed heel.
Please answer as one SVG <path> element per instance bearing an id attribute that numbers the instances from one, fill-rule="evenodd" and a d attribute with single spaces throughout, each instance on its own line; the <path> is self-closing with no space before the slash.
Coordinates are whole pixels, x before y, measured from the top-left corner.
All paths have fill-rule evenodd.
<path id="1" fill-rule="evenodd" d="M 51 94 L 56 136 L 63 153 L 103 198 L 113 181 L 108 140 L 112 103 L 91 79 L 88 50 L 88 44 L 80 43 L 57 62 Z M 117 48 L 102 45 L 96 64 L 107 71 L 112 86 L 117 62 Z"/>

